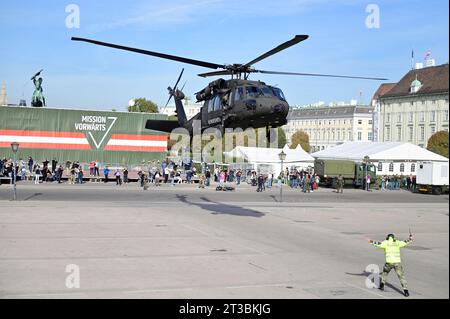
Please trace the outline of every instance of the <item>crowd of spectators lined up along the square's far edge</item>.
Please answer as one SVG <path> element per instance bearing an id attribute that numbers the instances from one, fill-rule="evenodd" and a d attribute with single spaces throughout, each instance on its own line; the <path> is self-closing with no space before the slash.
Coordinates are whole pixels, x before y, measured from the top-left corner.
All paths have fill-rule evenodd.
<path id="1" fill-rule="evenodd" d="M 87 169 L 84 170 L 83 167 Z M 11 159 L 0 159 L 0 177 L 13 179 L 14 174 L 17 180 L 32 180 L 35 184 L 57 182 L 61 183 L 67 179 L 69 184 L 83 184 L 86 180 L 101 182 L 115 182 L 121 186 L 130 182 L 129 171 L 127 167 L 111 167 L 105 165 L 102 167 L 97 160 L 92 160 L 87 164 L 80 164 L 77 161 L 66 161 L 59 163 L 56 159 L 51 161 L 45 159 L 42 162 L 36 162 L 32 157 L 27 160 L 19 159 L 15 167 Z M 205 168 L 203 173 L 197 171 L 191 163 L 174 163 L 164 160 L 149 162 L 148 165 L 142 165 L 137 172 L 137 181 L 142 188 L 148 188 L 150 184 L 160 186 L 161 184 L 170 184 L 175 186 L 181 183 L 193 184 L 199 182 L 201 187 L 208 187 L 212 182 L 219 186 L 225 184 L 240 185 L 246 182 L 256 187 L 256 191 L 263 192 L 266 188 L 273 187 L 274 184 L 280 186 L 285 184 L 292 189 L 300 189 L 304 193 L 314 192 L 319 188 L 320 178 L 311 171 L 297 170 L 295 168 L 286 168 L 278 176 L 273 173 L 261 174 L 255 170 L 241 170 L 234 168 Z M 10 181 L 11 182 L 11 181 Z M 370 181 L 367 181 L 370 183 Z M 370 184 L 369 184 L 370 185 Z M 416 189 L 416 177 L 413 175 L 391 175 L 379 176 L 374 181 L 380 190 L 398 190 Z"/>

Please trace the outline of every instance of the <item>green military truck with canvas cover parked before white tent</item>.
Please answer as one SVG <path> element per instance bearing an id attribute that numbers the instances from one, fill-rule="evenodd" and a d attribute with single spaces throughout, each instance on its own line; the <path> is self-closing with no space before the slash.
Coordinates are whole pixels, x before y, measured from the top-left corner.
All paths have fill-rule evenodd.
<path id="1" fill-rule="evenodd" d="M 345 160 L 320 160 L 314 161 L 314 172 L 320 177 L 320 184 L 327 187 L 336 187 L 339 175 L 344 178 L 344 185 L 352 185 L 355 188 L 365 187 L 366 164 Z M 370 175 L 371 183 L 375 183 L 375 165 L 367 164 L 367 175 Z"/>

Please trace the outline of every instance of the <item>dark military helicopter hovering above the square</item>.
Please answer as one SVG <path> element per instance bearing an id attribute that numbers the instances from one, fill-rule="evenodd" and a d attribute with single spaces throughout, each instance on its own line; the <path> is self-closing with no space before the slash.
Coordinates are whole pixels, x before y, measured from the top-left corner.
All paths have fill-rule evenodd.
<path id="1" fill-rule="evenodd" d="M 173 97 L 175 100 L 175 108 L 178 118 L 176 121 L 165 120 L 148 120 L 146 128 L 151 130 L 171 132 L 174 128 L 186 128 L 190 136 L 193 136 L 193 123 L 199 120 L 201 123 L 201 132 L 208 128 L 218 128 L 222 132 L 225 128 L 241 128 L 245 130 L 252 128 L 266 128 L 266 134 L 269 136 L 270 128 L 283 126 L 287 123 L 287 115 L 289 112 L 289 104 L 282 90 L 276 86 L 268 85 L 262 81 L 251 81 L 249 75 L 252 73 L 261 74 L 279 74 L 279 75 L 300 75 L 300 76 L 316 76 L 316 77 L 335 77 L 348 79 L 368 79 L 368 80 L 387 80 L 384 78 L 348 76 L 348 75 L 332 75 L 332 74 L 315 74 L 315 73 L 298 73 L 298 72 L 279 72 L 257 70 L 253 65 L 272 56 L 282 50 L 285 50 L 301 41 L 308 39 L 308 35 L 296 35 L 293 39 L 286 41 L 270 51 L 260 55 L 256 59 L 246 64 L 216 64 L 200 60 L 189 59 L 180 56 L 169 55 L 165 53 L 147 51 L 122 45 L 100 42 L 96 40 L 72 37 L 73 41 L 88 42 L 100 46 L 106 46 L 114 49 L 131 51 L 135 53 L 155 56 L 158 58 L 178 61 L 182 63 L 197 65 L 205 68 L 215 69 L 218 71 L 198 74 L 201 77 L 224 76 L 229 75 L 231 79 L 225 80 L 219 78 L 212 81 L 201 91 L 195 94 L 197 102 L 203 102 L 200 112 L 190 120 L 187 120 L 183 107 L 184 94 L 182 90 L 177 88 L 183 71 L 173 88 L 169 87 L 169 100 Z M 184 69 L 183 69 L 184 70 Z M 167 106 L 166 104 L 166 106 Z"/>

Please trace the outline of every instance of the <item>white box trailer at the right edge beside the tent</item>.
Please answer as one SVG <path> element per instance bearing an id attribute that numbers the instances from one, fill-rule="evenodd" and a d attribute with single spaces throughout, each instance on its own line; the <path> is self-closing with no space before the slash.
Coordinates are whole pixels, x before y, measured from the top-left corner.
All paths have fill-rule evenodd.
<path id="1" fill-rule="evenodd" d="M 416 184 L 420 193 L 440 195 L 448 193 L 448 162 L 421 162 Z"/>

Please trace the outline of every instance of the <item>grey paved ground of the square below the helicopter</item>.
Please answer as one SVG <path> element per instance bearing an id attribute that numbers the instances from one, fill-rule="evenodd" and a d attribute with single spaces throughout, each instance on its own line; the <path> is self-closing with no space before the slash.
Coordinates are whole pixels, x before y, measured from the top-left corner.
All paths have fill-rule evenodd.
<path id="1" fill-rule="evenodd" d="M 136 183 L 17 191 L 12 201 L 0 186 L 1 298 L 405 298 L 394 272 L 385 292 L 366 287 L 384 263 L 367 239 L 409 229 L 410 298 L 449 298 L 448 195 L 283 187 L 280 202 L 278 187 Z M 68 265 L 79 288 L 66 285 Z"/>

